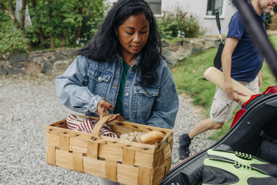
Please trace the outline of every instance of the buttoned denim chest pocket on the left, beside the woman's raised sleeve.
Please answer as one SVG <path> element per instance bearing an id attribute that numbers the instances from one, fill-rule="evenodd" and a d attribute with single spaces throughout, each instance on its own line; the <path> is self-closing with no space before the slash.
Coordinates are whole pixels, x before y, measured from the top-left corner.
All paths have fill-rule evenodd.
<path id="1" fill-rule="evenodd" d="M 93 94 L 105 98 L 112 73 L 98 68 L 90 68 L 87 75 L 89 76 L 89 90 Z"/>

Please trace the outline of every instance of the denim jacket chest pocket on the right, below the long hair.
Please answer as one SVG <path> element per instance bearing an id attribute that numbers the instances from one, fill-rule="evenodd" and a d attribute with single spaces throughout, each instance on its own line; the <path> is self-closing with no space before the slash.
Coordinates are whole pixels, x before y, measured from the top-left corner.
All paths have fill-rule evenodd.
<path id="1" fill-rule="evenodd" d="M 149 117 L 155 98 L 159 96 L 159 87 L 141 87 L 134 85 L 132 114 L 134 118 Z"/>

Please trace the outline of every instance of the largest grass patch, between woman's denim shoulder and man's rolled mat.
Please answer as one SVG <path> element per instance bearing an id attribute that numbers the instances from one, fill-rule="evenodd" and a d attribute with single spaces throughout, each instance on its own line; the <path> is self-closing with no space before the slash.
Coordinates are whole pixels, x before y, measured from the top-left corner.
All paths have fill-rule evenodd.
<path id="1" fill-rule="evenodd" d="M 193 55 L 171 69 L 172 76 L 179 93 L 185 92 L 193 96 L 193 103 L 202 105 L 209 111 L 215 94 L 215 85 L 203 80 L 203 73 L 213 66 L 213 58 L 217 49 L 208 49 Z"/>

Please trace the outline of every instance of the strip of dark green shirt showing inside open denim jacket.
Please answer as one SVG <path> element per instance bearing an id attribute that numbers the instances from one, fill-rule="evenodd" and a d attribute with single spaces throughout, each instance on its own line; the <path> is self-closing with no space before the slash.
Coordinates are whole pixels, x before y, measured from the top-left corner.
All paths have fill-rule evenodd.
<path id="1" fill-rule="evenodd" d="M 123 72 L 120 80 L 120 87 L 119 87 L 118 96 L 116 99 L 116 105 L 114 106 L 114 114 L 119 113 L 120 116 L 123 116 L 123 92 L 124 92 L 125 80 L 126 80 L 129 68 L 130 66 L 123 61 Z"/>

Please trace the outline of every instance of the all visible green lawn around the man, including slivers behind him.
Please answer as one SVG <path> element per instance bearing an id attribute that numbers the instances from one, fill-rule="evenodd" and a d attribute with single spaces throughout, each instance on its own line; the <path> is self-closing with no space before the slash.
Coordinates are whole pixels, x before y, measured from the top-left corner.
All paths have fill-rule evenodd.
<path id="1" fill-rule="evenodd" d="M 277 35 L 269 37 L 274 48 L 277 49 Z M 213 59 L 217 49 L 208 49 L 202 51 L 197 55 L 193 55 L 172 67 L 172 76 L 175 79 L 175 84 L 178 93 L 186 93 L 193 96 L 193 103 L 195 105 L 202 105 L 206 109 L 206 116 L 208 118 L 211 109 L 213 96 L 215 95 L 215 85 L 211 82 L 203 80 L 203 73 L 208 67 L 213 66 Z M 262 86 L 260 91 L 263 92 L 267 87 L 277 85 L 276 79 L 272 75 L 267 62 L 264 62 L 262 67 Z M 238 108 L 233 112 L 238 112 Z M 210 136 L 211 139 L 219 140 L 226 132 L 233 121 L 233 118 L 219 129 L 215 134 Z"/>

